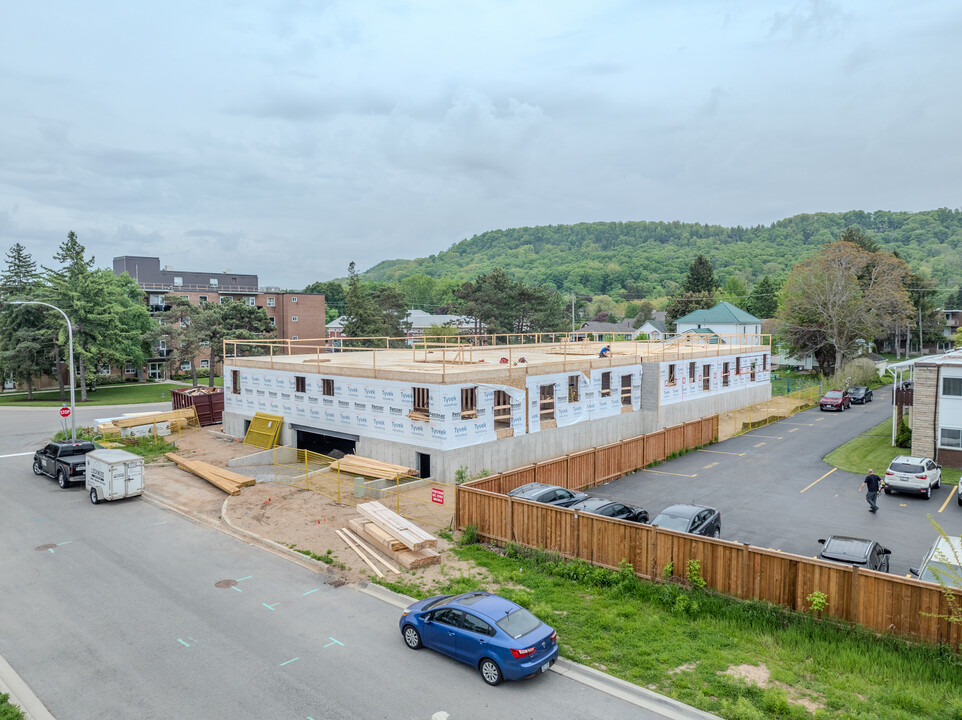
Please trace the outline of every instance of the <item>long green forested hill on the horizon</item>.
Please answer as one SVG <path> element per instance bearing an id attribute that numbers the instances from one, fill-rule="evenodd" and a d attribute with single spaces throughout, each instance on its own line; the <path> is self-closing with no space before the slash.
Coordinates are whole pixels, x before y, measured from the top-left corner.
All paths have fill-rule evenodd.
<path id="1" fill-rule="evenodd" d="M 763 275 L 783 278 L 850 225 L 897 251 L 915 271 L 937 280 L 940 290 L 962 281 L 962 211 L 947 209 L 796 215 L 751 228 L 595 222 L 490 230 L 427 258 L 379 263 L 364 277 L 399 281 L 423 274 L 473 280 L 502 267 L 516 280 L 558 290 L 661 297 L 677 291 L 699 253 L 711 260 L 719 283 L 737 275 L 751 285 Z"/>

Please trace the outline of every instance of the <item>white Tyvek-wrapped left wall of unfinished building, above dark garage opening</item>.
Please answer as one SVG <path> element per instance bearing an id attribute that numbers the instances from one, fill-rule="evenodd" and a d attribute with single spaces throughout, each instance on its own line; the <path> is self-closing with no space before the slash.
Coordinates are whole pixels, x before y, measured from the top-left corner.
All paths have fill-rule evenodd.
<path id="1" fill-rule="evenodd" d="M 524 390 L 497 385 L 464 383 L 430 385 L 428 418 L 412 417 L 415 387 L 411 383 L 360 378 L 304 377 L 304 391 L 295 390 L 293 373 L 240 369 L 239 392 L 233 392 L 231 373 L 225 377 L 225 407 L 245 414 L 270 412 L 288 422 L 315 428 L 319 433 L 336 431 L 364 437 L 414 443 L 424 447 L 453 449 L 497 439 L 494 428 L 494 394 L 503 390 L 511 405 L 511 428 L 525 432 Z M 323 394 L 323 380 L 333 380 L 333 395 Z M 476 388 L 476 417 L 461 415 L 462 388 Z"/>

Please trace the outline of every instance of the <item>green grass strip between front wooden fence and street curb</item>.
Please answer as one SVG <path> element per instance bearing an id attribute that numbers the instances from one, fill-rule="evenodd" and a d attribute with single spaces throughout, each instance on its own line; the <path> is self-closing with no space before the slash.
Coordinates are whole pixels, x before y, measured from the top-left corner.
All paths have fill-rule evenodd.
<path id="1" fill-rule="evenodd" d="M 729 720 L 962 719 L 962 658 L 946 648 L 537 550 L 455 552 L 483 570 L 389 587 L 417 597 L 497 592 L 554 626 L 565 657 Z M 699 577 L 688 574 L 692 585 Z M 748 666 L 761 686 L 739 676 Z"/>

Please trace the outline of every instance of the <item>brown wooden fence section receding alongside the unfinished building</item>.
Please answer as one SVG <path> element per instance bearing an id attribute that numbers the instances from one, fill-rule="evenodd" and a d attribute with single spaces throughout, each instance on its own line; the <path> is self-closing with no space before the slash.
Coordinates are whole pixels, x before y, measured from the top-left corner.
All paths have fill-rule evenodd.
<path id="1" fill-rule="evenodd" d="M 529 482 L 585 490 L 664 460 L 673 453 L 708 445 L 718 432 L 718 416 L 692 420 L 658 432 L 592 448 L 461 485 L 462 490 L 507 493 Z M 472 523 L 458 521 L 458 527 Z M 480 529 L 480 527 L 479 527 Z"/>

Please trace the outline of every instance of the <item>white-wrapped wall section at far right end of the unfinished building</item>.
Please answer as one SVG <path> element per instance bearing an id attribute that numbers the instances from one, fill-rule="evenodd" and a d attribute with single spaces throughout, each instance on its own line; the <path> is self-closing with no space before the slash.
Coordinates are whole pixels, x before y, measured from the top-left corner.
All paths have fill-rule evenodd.
<path id="1" fill-rule="evenodd" d="M 727 385 L 723 381 L 725 363 L 728 363 Z M 692 364 L 694 364 L 694 372 L 692 372 Z M 771 382 L 771 369 L 771 355 L 768 351 L 663 362 L 659 364 L 661 404 L 671 405 L 685 400 L 711 397 L 718 393 L 768 384 Z"/>

